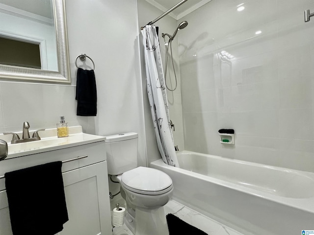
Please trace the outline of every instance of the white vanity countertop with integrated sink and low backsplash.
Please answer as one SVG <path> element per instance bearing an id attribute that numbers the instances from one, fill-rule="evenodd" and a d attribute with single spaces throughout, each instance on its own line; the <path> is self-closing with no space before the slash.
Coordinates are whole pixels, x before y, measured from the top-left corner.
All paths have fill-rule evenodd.
<path id="1" fill-rule="evenodd" d="M 21 137 L 21 132 L 17 132 Z M 31 131 L 29 135 L 31 136 Z M 82 132 L 81 126 L 73 126 L 69 127 L 69 137 L 57 138 L 56 128 L 46 129 L 45 131 L 39 132 L 39 136 L 41 137 L 40 141 L 32 141 L 27 149 L 24 149 L 23 144 L 25 143 L 15 143 L 11 144 L 11 135 L 3 135 L 0 134 L 0 139 L 7 141 L 8 143 L 8 155 L 6 159 L 21 157 L 25 155 L 31 155 L 36 153 L 48 152 L 52 150 L 62 149 L 74 147 L 82 144 L 105 141 L 105 137 L 85 134 Z M 50 140 L 54 141 L 53 145 L 45 145 L 46 142 L 50 142 Z M 12 149 L 10 149 L 12 147 Z"/>

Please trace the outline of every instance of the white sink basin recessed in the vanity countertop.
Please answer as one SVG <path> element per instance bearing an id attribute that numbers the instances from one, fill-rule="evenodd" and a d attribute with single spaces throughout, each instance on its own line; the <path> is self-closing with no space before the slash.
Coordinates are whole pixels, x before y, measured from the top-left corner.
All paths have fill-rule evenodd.
<path id="1" fill-rule="evenodd" d="M 66 139 L 49 139 L 49 140 L 40 140 L 40 141 L 32 141 L 32 142 L 25 142 L 25 143 L 15 143 L 15 144 L 8 144 L 8 154 L 14 152 L 21 152 L 21 151 L 29 151 L 34 149 L 46 148 L 54 145 L 60 145 L 65 143 Z"/>

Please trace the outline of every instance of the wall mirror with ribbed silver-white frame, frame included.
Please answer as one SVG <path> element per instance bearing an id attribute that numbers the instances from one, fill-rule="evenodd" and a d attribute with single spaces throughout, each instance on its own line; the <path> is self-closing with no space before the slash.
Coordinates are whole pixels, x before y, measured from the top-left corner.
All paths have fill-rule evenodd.
<path id="1" fill-rule="evenodd" d="M 0 22 L 1 80 L 71 83 L 65 0 L 0 0 Z"/>

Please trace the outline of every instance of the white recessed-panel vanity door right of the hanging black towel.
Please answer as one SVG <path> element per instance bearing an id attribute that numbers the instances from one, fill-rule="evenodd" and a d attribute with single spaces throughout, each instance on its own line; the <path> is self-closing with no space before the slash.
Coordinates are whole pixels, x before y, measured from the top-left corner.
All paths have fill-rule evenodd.
<path id="1" fill-rule="evenodd" d="M 69 221 L 59 235 L 112 235 L 107 163 L 63 173 Z"/>

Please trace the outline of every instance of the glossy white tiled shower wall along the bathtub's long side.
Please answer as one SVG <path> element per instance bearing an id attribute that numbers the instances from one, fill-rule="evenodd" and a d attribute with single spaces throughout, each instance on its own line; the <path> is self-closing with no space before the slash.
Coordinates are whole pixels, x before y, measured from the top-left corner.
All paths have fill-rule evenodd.
<path id="1" fill-rule="evenodd" d="M 212 0 L 178 21 L 188 21 L 178 35 L 185 150 L 314 172 L 307 9 L 313 0 Z M 219 142 L 221 128 L 235 129 L 235 145 Z"/>

